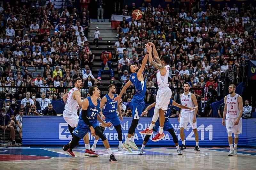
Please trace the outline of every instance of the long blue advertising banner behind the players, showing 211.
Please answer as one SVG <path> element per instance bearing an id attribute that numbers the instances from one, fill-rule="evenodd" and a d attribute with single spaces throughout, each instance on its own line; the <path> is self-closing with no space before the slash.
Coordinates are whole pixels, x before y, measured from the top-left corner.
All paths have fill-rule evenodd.
<path id="1" fill-rule="evenodd" d="M 177 118 L 169 118 L 173 129 L 181 143 L 180 126 Z M 256 128 L 256 119 L 243 119 L 243 133 L 239 134 L 240 146 L 256 147 L 256 135 L 251 129 Z M 150 124 L 151 118 L 141 117 L 135 130 L 135 142 L 141 145 L 145 135 L 139 131 L 146 129 Z M 126 138 L 132 119 L 124 117 L 121 122 L 123 140 Z M 200 146 L 219 146 L 228 145 L 226 127 L 221 124 L 220 118 L 197 118 L 197 130 L 199 134 Z M 114 127 L 106 128 L 104 134 L 108 138 L 110 145 L 118 145 L 117 133 Z M 156 132 L 150 137 L 148 145 L 173 146 L 172 136 L 165 132 L 164 140 L 153 142 L 151 139 Z M 186 145 L 195 145 L 194 132 L 190 125 L 185 130 Z M 64 145 L 71 140 L 68 131 L 68 124 L 62 116 L 24 116 L 22 122 L 22 145 Z M 89 133 L 90 143 L 94 138 Z M 80 144 L 84 144 L 83 140 Z M 99 140 L 98 144 L 102 144 Z"/>

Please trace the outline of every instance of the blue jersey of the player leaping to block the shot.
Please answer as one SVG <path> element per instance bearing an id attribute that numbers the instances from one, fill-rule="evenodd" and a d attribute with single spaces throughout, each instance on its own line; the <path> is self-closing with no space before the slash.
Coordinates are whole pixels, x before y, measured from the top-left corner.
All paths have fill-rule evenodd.
<path id="1" fill-rule="evenodd" d="M 143 101 L 146 94 L 146 80 L 140 81 L 137 78 L 137 73 L 132 73 L 130 76 L 130 81 L 135 87 L 135 94 L 132 99 Z"/>

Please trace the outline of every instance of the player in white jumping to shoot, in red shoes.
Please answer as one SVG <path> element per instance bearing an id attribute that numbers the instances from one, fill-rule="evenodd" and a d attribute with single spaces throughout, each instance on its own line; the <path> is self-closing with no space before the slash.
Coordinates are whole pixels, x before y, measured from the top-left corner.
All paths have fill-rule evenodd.
<path id="1" fill-rule="evenodd" d="M 154 58 L 156 62 L 153 61 L 152 58 L 152 47 L 153 46 L 153 53 L 154 53 Z M 170 63 L 170 57 L 169 56 L 163 56 L 162 61 L 159 59 L 156 47 L 152 42 L 149 42 L 146 44 L 146 48 L 149 52 L 148 56 L 148 61 L 151 65 L 153 65 L 157 70 L 156 73 L 156 80 L 157 80 L 157 85 L 158 85 L 158 91 L 156 94 L 156 107 L 154 110 L 154 115 L 152 117 L 152 121 L 150 126 L 146 129 L 141 131 L 143 134 L 152 134 L 153 133 L 153 127 L 159 118 L 159 132 L 156 134 L 156 136 L 152 139 L 152 141 L 156 142 L 165 137 L 163 129 L 164 129 L 164 111 L 167 110 L 169 101 L 172 96 L 172 91 L 169 88 L 168 84 L 168 76 L 169 76 L 169 63 Z"/>

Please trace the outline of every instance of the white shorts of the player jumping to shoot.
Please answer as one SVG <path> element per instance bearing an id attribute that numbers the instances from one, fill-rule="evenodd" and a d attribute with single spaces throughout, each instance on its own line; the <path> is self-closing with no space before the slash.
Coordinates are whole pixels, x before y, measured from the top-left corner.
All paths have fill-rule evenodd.
<path id="1" fill-rule="evenodd" d="M 172 91 L 169 87 L 164 89 L 158 89 L 156 94 L 155 107 L 158 109 L 167 110 L 171 97 L 172 97 Z"/>

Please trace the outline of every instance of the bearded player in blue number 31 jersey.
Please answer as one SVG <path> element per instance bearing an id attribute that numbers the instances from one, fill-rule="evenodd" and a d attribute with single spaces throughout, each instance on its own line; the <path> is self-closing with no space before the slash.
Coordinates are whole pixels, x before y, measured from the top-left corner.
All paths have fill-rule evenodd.
<path id="1" fill-rule="evenodd" d="M 123 135 L 122 135 L 122 129 L 121 129 L 121 123 L 116 115 L 116 110 L 118 109 L 118 112 L 120 113 L 119 118 L 122 121 L 123 120 L 123 116 L 121 114 L 121 108 L 120 105 L 117 104 L 117 101 L 114 101 L 114 98 L 118 96 L 116 94 L 116 87 L 115 85 L 109 85 L 108 86 L 108 94 L 106 94 L 100 102 L 100 108 L 103 108 L 102 111 L 102 115 L 101 119 L 103 120 L 103 122 L 107 123 L 107 122 L 111 122 L 113 124 L 113 126 L 116 129 L 117 132 L 117 137 L 118 137 L 118 141 L 119 141 L 119 145 L 118 145 L 118 151 L 125 151 L 122 148 L 122 140 L 123 140 Z M 105 127 L 100 125 L 101 131 L 104 132 Z M 94 143 L 92 145 L 92 150 L 94 151 L 96 148 L 96 144 L 99 140 L 99 137 L 96 136 L 94 139 Z"/>

